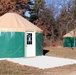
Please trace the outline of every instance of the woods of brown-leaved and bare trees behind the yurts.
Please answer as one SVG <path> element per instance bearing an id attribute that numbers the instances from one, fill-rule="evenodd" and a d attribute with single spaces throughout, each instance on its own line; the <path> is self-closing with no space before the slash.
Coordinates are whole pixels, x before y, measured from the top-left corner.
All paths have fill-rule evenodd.
<path id="1" fill-rule="evenodd" d="M 44 45 L 62 45 L 63 35 L 76 29 L 76 0 L 0 0 L 0 16 L 13 11 L 43 30 Z M 29 11 L 30 17 L 25 16 Z"/>

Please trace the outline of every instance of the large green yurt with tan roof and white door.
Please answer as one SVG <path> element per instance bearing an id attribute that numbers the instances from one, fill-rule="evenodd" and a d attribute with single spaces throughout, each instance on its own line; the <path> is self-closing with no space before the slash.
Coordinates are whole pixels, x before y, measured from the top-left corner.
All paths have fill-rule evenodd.
<path id="1" fill-rule="evenodd" d="M 0 17 L 0 58 L 42 55 L 42 30 L 16 13 Z"/>

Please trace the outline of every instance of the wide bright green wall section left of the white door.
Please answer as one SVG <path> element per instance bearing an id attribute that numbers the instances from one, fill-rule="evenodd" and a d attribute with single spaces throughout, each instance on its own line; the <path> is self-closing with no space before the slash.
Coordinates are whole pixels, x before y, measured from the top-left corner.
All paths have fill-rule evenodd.
<path id="1" fill-rule="evenodd" d="M 0 58 L 24 57 L 24 33 L 0 32 Z"/>

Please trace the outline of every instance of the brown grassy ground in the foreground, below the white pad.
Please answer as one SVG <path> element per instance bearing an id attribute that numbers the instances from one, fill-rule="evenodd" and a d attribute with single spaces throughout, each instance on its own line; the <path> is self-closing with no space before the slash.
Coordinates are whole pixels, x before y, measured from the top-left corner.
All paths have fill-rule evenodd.
<path id="1" fill-rule="evenodd" d="M 42 70 L 4 60 L 0 61 L 0 75 L 76 75 L 76 64 Z"/>

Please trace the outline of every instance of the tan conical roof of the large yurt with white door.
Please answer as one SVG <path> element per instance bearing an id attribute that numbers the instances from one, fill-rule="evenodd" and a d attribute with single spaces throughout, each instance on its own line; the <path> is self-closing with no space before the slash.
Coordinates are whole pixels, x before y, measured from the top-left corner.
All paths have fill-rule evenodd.
<path id="1" fill-rule="evenodd" d="M 0 31 L 42 32 L 40 28 L 16 13 L 6 13 L 0 17 Z"/>

